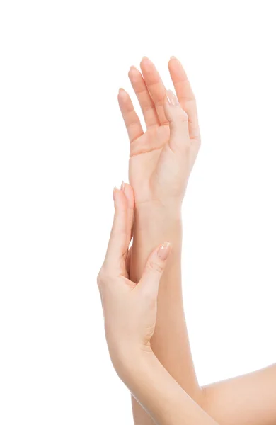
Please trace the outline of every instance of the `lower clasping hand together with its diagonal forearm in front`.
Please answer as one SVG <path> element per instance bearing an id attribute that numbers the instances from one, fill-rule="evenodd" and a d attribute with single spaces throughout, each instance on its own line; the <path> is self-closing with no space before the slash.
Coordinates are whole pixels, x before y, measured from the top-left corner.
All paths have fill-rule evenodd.
<path id="1" fill-rule="evenodd" d="M 117 374 L 158 425 L 215 425 L 151 351 L 159 283 L 171 244 L 154 249 L 139 283 L 129 279 L 127 254 L 132 226 L 132 189 L 114 191 L 115 217 L 108 251 L 98 274 L 105 335 Z"/>

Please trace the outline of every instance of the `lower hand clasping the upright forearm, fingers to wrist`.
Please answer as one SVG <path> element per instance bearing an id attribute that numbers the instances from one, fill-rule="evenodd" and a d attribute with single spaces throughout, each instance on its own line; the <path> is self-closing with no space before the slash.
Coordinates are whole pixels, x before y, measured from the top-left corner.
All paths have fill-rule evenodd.
<path id="1" fill-rule="evenodd" d="M 150 349 L 154 334 L 159 281 L 171 251 L 159 245 L 149 256 L 141 280 L 128 278 L 127 257 L 131 239 L 134 194 L 130 185 L 115 189 L 115 217 L 105 261 L 98 274 L 105 335 L 117 370 L 122 356 Z M 117 370 L 118 372 L 118 370 Z"/>

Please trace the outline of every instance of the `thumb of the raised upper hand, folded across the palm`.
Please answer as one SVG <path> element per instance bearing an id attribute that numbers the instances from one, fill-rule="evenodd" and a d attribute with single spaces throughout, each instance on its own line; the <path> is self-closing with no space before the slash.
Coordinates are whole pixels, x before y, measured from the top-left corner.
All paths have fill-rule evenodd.
<path id="1" fill-rule="evenodd" d="M 188 115 L 181 108 L 178 98 L 171 90 L 166 91 L 163 106 L 168 124 L 170 126 L 170 145 L 176 151 L 186 151 L 190 147 Z"/>

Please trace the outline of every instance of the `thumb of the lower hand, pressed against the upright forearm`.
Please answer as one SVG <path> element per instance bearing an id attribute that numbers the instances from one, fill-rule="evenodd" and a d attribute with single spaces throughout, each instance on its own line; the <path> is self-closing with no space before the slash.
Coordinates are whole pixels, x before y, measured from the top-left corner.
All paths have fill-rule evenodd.
<path id="1" fill-rule="evenodd" d="M 146 261 L 144 273 L 139 281 L 138 287 L 143 291 L 144 295 L 156 300 L 159 290 L 161 276 L 166 267 L 166 261 L 171 254 L 171 244 L 166 242 L 159 245 L 149 256 Z"/>

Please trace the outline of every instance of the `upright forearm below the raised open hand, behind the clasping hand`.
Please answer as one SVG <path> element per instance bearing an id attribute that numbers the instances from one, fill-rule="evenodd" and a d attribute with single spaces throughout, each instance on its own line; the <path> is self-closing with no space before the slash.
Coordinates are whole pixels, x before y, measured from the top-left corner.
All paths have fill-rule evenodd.
<path id="1" fill-rule="evenodd" d="M 149 253 L 156 244 L 171 242 L 173 249 L 159 287 L 156 329 L 151 348 L 168 373 L 197 403 L 202 391 L 197 384 L 183 312 L 181 285 L 182 222 L 178 205 L 145 205 L 135 215 L 131 278 L 138 281 Z M 151 424 L 133 400 L 135 424 Z"/>

